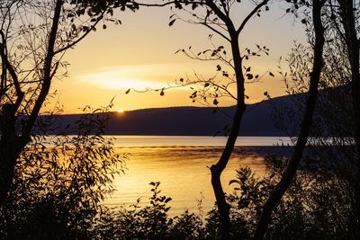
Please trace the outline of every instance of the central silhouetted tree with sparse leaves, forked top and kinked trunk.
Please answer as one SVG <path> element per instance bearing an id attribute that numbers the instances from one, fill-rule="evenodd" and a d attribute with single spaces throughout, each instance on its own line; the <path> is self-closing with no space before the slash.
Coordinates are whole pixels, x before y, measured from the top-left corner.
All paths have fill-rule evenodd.
<path id="1" fill-rule="evenodd" d="M 181 50 L 181 52 L 184 52 L 190 58 L 199 60 L 220 60 L 222 64 L 226 64 L 230 68 L 230 71 L 234 73 L 233 76 L 231 73 L 221 68 L 220 65 L 217 66 L 217 71 L 222 74 L 226 83 L 215 82 L 215 77 L 204 80 L 198 76 L 196 76 L 195 80 L 189 81 L 185 81 L 184 78 L 181 78 L 179 83 L 180 85 L 200 84 L 201 90 L 194 90 L 191 95 L 193 101 L 202 99 L 207 102 L 207 97 L 210 96 L 213 99 L 213 105 L 217 106 L 219 103 L 218 98 L 223 95 L 229 96 L 236 101 L 236 111 L 232 117 L 232 124 L 229 128 L 227 143 L 222 151 L 219 161 L 216 164 L 212 164 L 210 167 L 211 185 L 220 213 L 219 218 L 222 239 L 229 239 L 230 237 L 230 207 L 226 200 L 225 192 L 222 189 L 220 175 L 229 162 L 236 139 L 238 138 L 242 116 L 246 111 L 245 99 L 247 98 L 247 95 L 245 94 L 245 83 L 247 80 L 254 81 L 259 78 L 258 75 L 251 74 L 251 67 L 244 67 L 244 61 L 251 57 L 258 57 L 260 56 L 259 53 L 262 52 L 267 54 L 268 51 L 266 47 L 260 47 L 259 45 L 257 45 L 257 50 L 252 51 L 250 49 L 245 49 L 244 52 L 240 50 L 239 39 L 249 20 L 253 17 L 260 16 L 263 9 L 265 11 L 269 9 L 267 6 L 268 0 L 253 2 L 255 4 L 254 7 L 239 24 L 233 22 L 230 14 L 231 7 L 236 3 L 239 4 L 239 1 L 235 0 L 175 0 L 167 1 L 164 4 L 140 4 L 148 6 L 175 4 L 175 9 L 189 13 L 192 16 L 192 20 L 184 20 L 184 18 L 174 12 L 175 14 L 170 17 L 170 26 L 177 20 L 201 24 L 219 35 L 223 40 L 226 40 L 230 45 L 230 58 L 226 57 L 226 50 L 223 46 L 216 47 L 213 45 L 214 49 L 207 49 L 198 54 L 194 54 L 191 48 L 189 48 L 189 50 Z M 273 76 L 272 73 L 269 74 L 270 76 Z M 229 85 L 231 84 L 234 84 L 236 93 L 231 93 L 229 90 Z M 160 95 L 164 94 L 164 90 L 166 90 L 166 88 L 161 89 Z M 127 93 L 129 93 L 129 90 Z"/>

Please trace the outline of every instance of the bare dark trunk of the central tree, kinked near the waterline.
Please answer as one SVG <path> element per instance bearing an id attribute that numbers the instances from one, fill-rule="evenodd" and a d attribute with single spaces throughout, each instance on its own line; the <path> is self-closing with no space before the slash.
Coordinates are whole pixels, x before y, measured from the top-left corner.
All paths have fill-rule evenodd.
<path id="1" fill-rule="evenodd" d="M 227 140 L 226 146 L 222 151 L 222 155 L 217 164 L 211 165 L 211 185 L 215 193 L 216 203 L 219 209 L 220 214 L 220 223 L 221 223 L 221 239 L 230 238 L 230 218 L 229 218 L 229 203 L 226 201 L 225 192 L 222 189 L 220 176 L 223 170 L 226 168 L 226 165 L 229 162 L 229 158 L 234 149 L 235 142 L 238 138 L 238 132 L 241 125 L 242 116 L 246 110 L 245 105 L 245 90 L 244 90 L 244 76 L 242 72 L 242 59 L 240 56 L 240 51 L 238 47 L 238 33 L 235 31 L 235 28 L 232 24 L 228 25 L 229 35 L 231 39 L 231 50 L 234 61 L 234 70 L 237 79 L 237 106 L 232 122 L 232 126 L 229 132 L 229 138 Z"/>

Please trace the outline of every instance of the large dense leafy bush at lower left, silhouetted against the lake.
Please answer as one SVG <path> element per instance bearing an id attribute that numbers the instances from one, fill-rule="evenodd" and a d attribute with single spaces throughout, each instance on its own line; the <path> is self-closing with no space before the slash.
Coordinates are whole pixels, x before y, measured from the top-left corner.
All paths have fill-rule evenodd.
<path id="1" fill-rule="evenodd" d="M 126 156 L 116 154 L 112 139 L 101 136 L 107 121 L 101 119 L 104 114 L 88 113 L 76 122 L 77 136 L 34 136 L 24 149 L 10 197 L 0 209 L 2 238 L 89 235 L 101 201 L 113 191 L 114 174 L 124 169 Z"/>

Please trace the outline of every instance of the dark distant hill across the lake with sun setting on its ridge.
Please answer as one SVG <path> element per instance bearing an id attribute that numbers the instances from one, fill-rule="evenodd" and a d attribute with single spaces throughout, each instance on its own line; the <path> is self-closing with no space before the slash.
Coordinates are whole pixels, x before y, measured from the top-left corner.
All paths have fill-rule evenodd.
<path id="1" fill-rule="evenodd" d="M 242 136 L 286 136 L 276 129 L 271 112 L 274 106 L 289 105 L 288 96 L 277 97 L 264 102 L 247 105 L 240 135 Z M 110 122 L 106 134 L 109 135 L 169 135 L 169 136 L 213 136 L 222 135 L 225 126 L 231 124 L 234 107 L 220 108 L 213 113 L 207 107 L 154 108 L 123 113 L 110 112 Z M 57 115 L 55 120 L 64 128 L 80 118 L 79 114 Z M 58 128 L 57 128 L 58 129 Z M 58 133 L 57 130 L 52 132 Z M 67 129 L 67 134 L 75 134 L 75 129 Z"/>

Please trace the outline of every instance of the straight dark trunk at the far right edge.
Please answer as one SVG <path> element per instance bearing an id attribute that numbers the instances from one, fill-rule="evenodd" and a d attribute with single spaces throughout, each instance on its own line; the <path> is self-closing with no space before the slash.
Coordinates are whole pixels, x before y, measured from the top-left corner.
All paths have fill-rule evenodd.
<path id="1" fill-rule="evenodd" d="M 360 73 L 359 73 L 359 49 L 360 42 L 356 36 L 356 19 L 353 8 L 353 0 L 338 1 L 341 6 L 342 22 L 344 24 L 345 38 L 347 44 L 347 56 L 351 67 L 351 90 L 353 97 L 354 129 L 356 143 L 356 236 L 360 231 Z"/>

